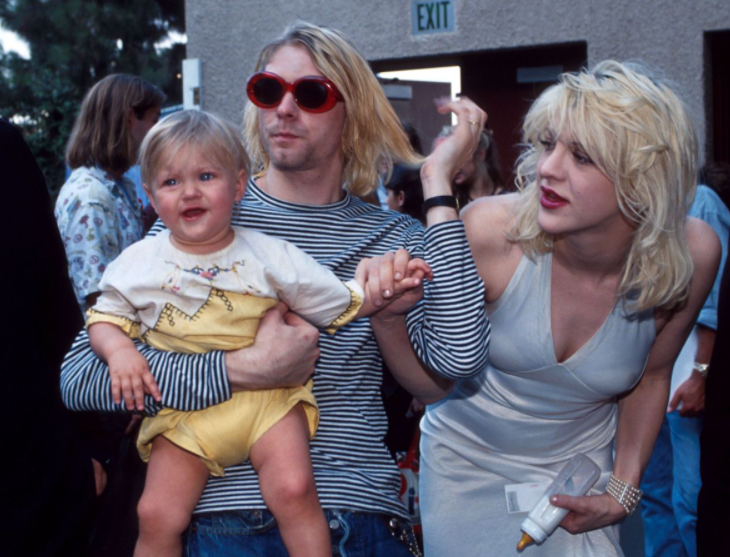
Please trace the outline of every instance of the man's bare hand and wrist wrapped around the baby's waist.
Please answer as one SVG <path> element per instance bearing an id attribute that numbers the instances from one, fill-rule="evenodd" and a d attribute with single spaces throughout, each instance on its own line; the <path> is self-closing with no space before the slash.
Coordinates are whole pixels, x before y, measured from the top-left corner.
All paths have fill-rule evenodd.
<path id="1" fill-rule="evenodd" d="M 314 373 L 319 331 L 280 302 L 261 320 L 252 346 L 226 352 L 234 391 L 298 387 Z"/>

